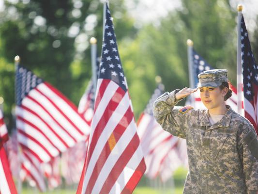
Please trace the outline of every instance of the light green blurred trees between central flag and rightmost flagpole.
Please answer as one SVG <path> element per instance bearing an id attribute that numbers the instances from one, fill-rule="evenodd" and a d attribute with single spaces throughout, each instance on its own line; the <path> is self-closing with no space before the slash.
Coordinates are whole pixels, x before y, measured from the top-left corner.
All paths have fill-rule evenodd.
<path id="1" fill-rule="evenodd" d="M 187 39 L 213 68 L 228 68 L 235 84 L 236 16 L 227 0 L 182 0 L 180 9 L 158 24 L 145 25 L 131 43 L 124 40 L 121 58 L 136 115 L 147 104 L 156 75 L 166 91 L 189 86 Z"/>

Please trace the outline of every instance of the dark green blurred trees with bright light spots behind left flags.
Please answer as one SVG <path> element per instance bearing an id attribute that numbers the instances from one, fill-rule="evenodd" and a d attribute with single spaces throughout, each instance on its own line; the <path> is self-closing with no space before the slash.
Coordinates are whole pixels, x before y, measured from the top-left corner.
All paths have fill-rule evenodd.
<path id="1" fill-rule="evenodd" d="M 137 29 L 123 0 L 114 0 L 110 6 L 120 29 L 117 39 L 133 36 Z M 5 0 L 0 12 L 0 94 L 7 118 L 11 120 L 15 103 L 15 55 L 22 65 L 78 104 L 91 78 L 89 39 L 100 40 L 100 53 L 102 25 L 100 0 Z"/>

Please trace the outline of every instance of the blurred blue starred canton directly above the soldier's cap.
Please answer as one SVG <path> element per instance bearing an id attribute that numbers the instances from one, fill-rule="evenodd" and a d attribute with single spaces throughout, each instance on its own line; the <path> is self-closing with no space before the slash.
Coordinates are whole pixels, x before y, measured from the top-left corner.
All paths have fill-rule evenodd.
<path id="1" fill-rule="evenodd" d="M 203 71 L 207 71 L 212 69 L 211 65 L 209 65 L 197 52 L 193 49 L 193 71 L 194 71 L 194 79 L 195 79 L 195 86 L 199 82 L 197 75 Z"/>

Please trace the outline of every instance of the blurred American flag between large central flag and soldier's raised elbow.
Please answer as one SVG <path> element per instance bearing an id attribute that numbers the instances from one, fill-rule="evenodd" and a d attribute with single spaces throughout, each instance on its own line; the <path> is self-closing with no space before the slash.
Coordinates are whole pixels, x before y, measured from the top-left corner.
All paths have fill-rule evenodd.
<path id="1" fill-rule="evenodd" d="M 137 123 L 137 132 L 139 134 L 147 166 L 145 172 L 146 176 L 153 179 L 160 175 L 162 180 L 166 181 L 168 176 L 166 176 L 165 173 L 162 173 L 161 169 L 162 166 L 164 169 L 164 162 L 169 161 L 175 165 L 180 164 L 181 162 L 177 160 L 178 157 L 168 157 L 169 153 L 173 152 L 173 149 L 177 146 L 179 138 L 163 130 L 153 117 L 153 102 L 162 94 L 163 91 L 164 85 L 159 83 L 157 88 L 154 90 L 145 111 L 140 115 Z M 168 169 L 166 169 L 166 171 L 168 172 Z M 172 173 L 169 173 L 169 177 L 171 177 L 171 175 Z"/>

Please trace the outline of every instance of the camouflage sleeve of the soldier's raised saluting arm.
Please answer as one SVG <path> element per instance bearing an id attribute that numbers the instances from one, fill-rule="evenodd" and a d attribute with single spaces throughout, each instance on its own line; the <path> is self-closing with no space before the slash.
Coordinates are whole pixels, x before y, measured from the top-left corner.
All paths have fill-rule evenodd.
<path id="1" fill-rule="evenodd" d="M 166 92 L 158 97 L 153 104 L 153 115 L 164 130 L 185 139 L 187 114 L 179 113 L 179 109 L 182 107 L 175 107 L 182 100 L 175 98 L 178 91 L 180 90 Z"/>

